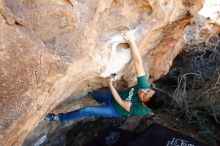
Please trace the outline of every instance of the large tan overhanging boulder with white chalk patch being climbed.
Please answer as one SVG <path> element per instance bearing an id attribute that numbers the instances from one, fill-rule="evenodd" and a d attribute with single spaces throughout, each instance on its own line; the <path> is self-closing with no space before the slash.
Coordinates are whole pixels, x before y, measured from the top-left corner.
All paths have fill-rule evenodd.
<path id="1" fill-rule="evenodd" d="M 0 145 L 20 145 L 63 100 L 105 86 L 103 73 L 133 82 L 122 31 L 136 36 L 151 77 L 166 74 L 202 3 L 0 0 Z M 120 54 L 117 67 L 111 61 Z"/>

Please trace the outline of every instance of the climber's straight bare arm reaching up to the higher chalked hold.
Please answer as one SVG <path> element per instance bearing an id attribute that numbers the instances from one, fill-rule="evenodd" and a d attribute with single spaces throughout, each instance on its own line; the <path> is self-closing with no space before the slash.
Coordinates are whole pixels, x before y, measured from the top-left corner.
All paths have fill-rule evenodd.
<path id="1" fill-rule="evenodd" d="M 137 72 L 137 76 L 142 76 L 145 75 L 145 71 L 144 71 L 144 66 L 143 66 L 143 61 L 140 55 L 140 52 L 138 50 L 138 47 L 135 43 L 135 38 L 132 34 L 130 34 L 129 32 L 125 33 L 123 36 L 130 44 L 131 47 L 131 53 L 132 53 L 132 57 L 134 59 L 134 64 L 135 64 L 135 69 Z"/>

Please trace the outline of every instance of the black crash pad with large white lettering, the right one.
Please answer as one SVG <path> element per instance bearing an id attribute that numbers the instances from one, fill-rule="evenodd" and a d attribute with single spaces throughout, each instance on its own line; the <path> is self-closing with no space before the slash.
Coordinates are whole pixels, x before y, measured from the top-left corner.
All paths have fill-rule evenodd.
<path id="1" fill-rule="evenodd" d="M 207 146 L 159 124 L 152 124 L 127 146 Z"/>

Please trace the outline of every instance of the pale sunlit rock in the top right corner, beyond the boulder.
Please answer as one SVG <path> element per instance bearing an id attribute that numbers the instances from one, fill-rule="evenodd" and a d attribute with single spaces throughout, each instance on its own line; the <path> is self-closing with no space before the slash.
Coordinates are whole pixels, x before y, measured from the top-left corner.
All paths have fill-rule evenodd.
<path id="1" fill-rule="evenodd" d="M 206 0 L 198 15 L 187 26 L 184 39 L 187 45 L 198 45 L 206 42 L 211 34 L 220 32 L 220 1 Z M 192 50 L 188 50 L 192 51 Z M 196 51 L 196 50 L 195 50 Z"/>

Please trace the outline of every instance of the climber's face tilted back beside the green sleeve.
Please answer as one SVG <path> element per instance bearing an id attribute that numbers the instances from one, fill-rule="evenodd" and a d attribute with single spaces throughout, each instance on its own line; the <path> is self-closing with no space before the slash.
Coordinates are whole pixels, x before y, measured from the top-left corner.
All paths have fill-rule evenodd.
<path id="1" fill-rule="evenodd" d="M 138 96 L 142 103 L 149 101 L 154 94 L 155 91 L 152 89 L 138 89 Z"/>

